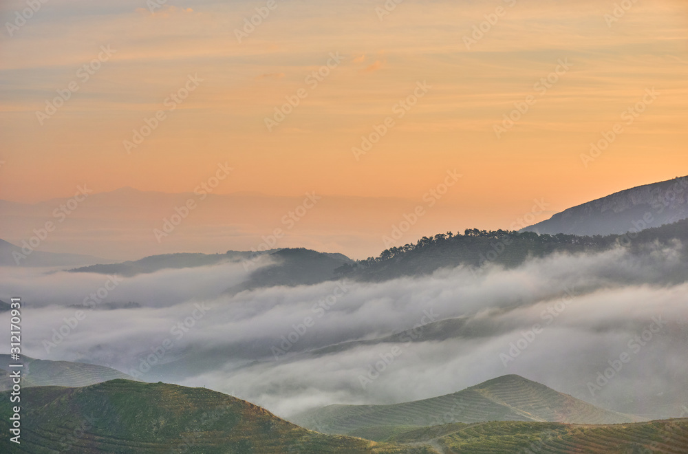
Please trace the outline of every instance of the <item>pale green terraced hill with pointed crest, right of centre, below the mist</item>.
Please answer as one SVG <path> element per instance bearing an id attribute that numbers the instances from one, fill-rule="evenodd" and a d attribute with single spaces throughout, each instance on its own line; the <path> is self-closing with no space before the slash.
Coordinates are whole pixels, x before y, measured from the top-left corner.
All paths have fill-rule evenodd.
<path id="1" fill-rule="evenodd" d="M 330 405 L 290 418 L 324 433 L 360 433 L 382 426 L 449 422 L 540 421 L 618 424 L 640 418 L 595 407 L 517 375 L 488 380 L 446 396 L 392 405 Z"/>

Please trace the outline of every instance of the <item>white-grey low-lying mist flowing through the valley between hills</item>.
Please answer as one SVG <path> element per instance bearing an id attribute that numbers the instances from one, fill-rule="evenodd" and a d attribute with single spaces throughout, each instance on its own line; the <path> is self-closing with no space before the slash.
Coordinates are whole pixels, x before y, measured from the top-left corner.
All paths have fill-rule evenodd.
<path id="1" fill-rule="evenodd" d="M 459 267 L 234 296 L 224 291 L 248 277 L 240 263 L 114 281 L 6 268 L 0 283 L 26 303 L 28 356 L 205 386 L 285 417 L 334 403 L 429 398 L 519 374 L 658 418 L 676 417 L 688 403 L 682 251 L 675 244 L 636 256 L 616 248 L 510 270 Z M 141 307 L 105 310 L 89 296 L 101 299 L 102 288 L 103 302 Z M 67 307 L 75 304 L 86 307 Z"/>

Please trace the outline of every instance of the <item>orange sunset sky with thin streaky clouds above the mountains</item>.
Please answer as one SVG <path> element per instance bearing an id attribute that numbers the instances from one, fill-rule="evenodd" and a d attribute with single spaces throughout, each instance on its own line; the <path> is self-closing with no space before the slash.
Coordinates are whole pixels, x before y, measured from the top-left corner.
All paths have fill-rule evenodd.
<path id="1" fill-rule="evenodd" d="M 0 199 L 222 163 L 215 193 L 420 202 L 453 171 L 444 224 L 503 228 L 685 175 L 688 5 L 615 4 L 3 1 Z"/>

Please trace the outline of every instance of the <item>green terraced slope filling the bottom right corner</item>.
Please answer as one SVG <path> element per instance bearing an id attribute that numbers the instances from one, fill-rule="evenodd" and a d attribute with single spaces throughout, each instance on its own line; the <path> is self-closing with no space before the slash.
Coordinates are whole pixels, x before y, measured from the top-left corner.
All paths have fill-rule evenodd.
<path id="1" fill-rule="evenodd" d="M 601 426 L 556 422 L 445 424 L 400 433 L 388 440 L 432 444 L 445 454 L 685 454 L 688 419 Z"/>

